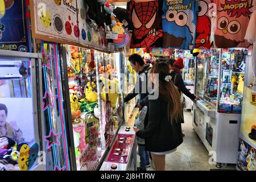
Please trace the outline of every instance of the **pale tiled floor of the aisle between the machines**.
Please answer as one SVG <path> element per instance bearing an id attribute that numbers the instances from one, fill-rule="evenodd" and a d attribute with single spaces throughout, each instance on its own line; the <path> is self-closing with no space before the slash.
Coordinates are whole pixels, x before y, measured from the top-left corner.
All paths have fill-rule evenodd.
<path id="1" fill-rule="evenodd" d="M 134 117 L 136 114 L 133 114 Z M 204 144 L 192 127 L 192 114 L 184 112 L 185 123 L 182 125 L 185 137 L 184 142 L 177 148 L 177 151 L 166 155 L 166 170 L 168 171 L 209 171 L 218 169 L 215 165 L 209 164 L 210 156 Z M 134 118 L 128 122 L 133 125 Z M 137 155 L 137 164 L 139 166 L 139 155 Z M 221 169 L 235 169 L 234 166 L 222 167 Z M 153 171 L 152 164 L 148 171 Z"/>

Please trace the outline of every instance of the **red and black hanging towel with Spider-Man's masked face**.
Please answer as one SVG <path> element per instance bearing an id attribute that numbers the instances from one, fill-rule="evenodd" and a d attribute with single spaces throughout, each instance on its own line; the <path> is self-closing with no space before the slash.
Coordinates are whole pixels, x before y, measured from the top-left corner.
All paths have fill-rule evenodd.
<path id="1" fill-rule="evenodd" d="M 162 0 L 127 3 L 134 31 L 130 48 L 163 46 L 161 20 Z"/>

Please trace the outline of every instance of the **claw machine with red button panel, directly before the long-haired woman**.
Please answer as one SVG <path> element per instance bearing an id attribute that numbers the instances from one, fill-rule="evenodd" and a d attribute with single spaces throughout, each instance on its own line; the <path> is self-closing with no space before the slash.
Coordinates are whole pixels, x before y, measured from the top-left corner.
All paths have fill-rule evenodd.
<path id="1" fill-rule="evenodd" d="M 122 80 L 121 76 L 121 68 L 122 60 L 125 59 L 123 57 L 123 53 L 104 53 L 104 62 L 106 65 L 105 69 L 112 69 L 112 71 L 106 71 L 105 73 L 100 74 L 100 80 L 104 82 L 105 85 L 110 85 L 108 92 L 106 91 L 106 98 L 101 94 L 101 100 L 103 100 L 104 106 L 102 108 L 106 108 L 105 112 L 102 111 L 102 122 L 105 121 L 106 126 L 108 123 L 113 123 L 114 121 L 117 124 L 114 124 L 114 137 L 113 144 L 110 144 L 110 151 L 106 156 L 100 170 L 102 171 L 127 171 L 127 170 L 135 170 L 136 169 L 136 140 L 134 130 L 129 126 L 121 126 L 124 123 L 123 113 L 122 113 L 122 104 L 123 97 L 119 89 L 125 88 L 125 86 L 121 86 L 123 81 L 126 81 L 126 78 Z M 102 76 L 105 77 L 102 79 Z M 126 76 L 124 76 L 126 77 Z M 129 77 L 130 78 L 130 77 Z M 109 81 L 109 84 L 108 84 Z M 121 83 L 121 84 L 119 84 Z M 114 88 L 115 89 L 111 89 Z M 131 87 L 132 88 L 132 87 Z M 103 89 L 104 90 L 104 89 Z M 118 91 L 118 92 L 117 92 Z M 105 107 L 106 106 L 106 107 Z M 116 110 L 116 111 L 115 111 Z M 105 114 L 104 114 L 105 113 Z M 105 119 L 104 119 L 105 116 Z M 115 121 L 117 118 L 117 121 Z M 113 124 L 112 124 L 113 125 Z M 112 126 L 111 124 L 109 126 Z M 107 127 L 105 127 L 107 128 Z M 108 127 L 109 128 L 109 127 Z M 109 129 L 108 129 L 109 130 Z M 105 130 L 105 134 L 107 133 Z M 111 130 L 109 130 L 111 131 Z M 106 135 L 106 136 L 108 136 Z M 111 136 L 110 136 L 111 137 Z M 105 137 L 106 141 L 109 137 Z M 106 142 L 107 143 L 107 142 Z"/>

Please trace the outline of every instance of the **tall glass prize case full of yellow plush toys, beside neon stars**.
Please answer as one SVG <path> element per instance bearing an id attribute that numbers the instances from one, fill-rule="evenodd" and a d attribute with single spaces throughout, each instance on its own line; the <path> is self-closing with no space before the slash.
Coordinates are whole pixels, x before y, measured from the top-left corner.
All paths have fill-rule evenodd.
<path id="1" fill-rule="evenodd" d="M 93 50 L 69 45 L 62 48 L 64 80 L 68 80 L 68 83 L 64 81 L 64 94 L 69 96 L 68 125 L 72 125 L 76 169 L 93 171 L 105 152 L 100 129 L 98 67 L 93 59 Z"/>

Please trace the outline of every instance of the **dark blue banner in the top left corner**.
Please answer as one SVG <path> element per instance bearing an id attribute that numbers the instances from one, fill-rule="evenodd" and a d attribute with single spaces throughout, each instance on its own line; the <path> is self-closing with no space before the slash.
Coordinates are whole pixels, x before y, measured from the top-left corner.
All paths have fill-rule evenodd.
<path id="1" fill-rule="evenodd" d="M 0 18 L 0 49 L 27 52 L 26 2 L 24 0 L 4 2 L 5 11 L 1 10 L 2 18 Z"/>

